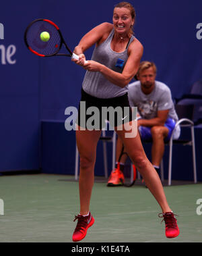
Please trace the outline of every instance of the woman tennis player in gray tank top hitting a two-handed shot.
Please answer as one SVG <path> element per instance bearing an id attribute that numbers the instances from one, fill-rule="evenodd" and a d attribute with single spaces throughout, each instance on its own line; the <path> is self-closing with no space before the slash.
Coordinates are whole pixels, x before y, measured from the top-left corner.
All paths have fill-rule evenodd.
<path id="1" fill-rule="evenodd" d="M 87 70 L 81 89 L 81 101 L 86 102 L 86 107 L 94 106 L 98 109 L 102 106 L 129 107 L 127 85 L 137 73 L 143 55 L 143 46 L 133 36 L 135 9 L 130 3 L 121 2 L 114 7 L 112 20 L 113 24 L 103 23 L 90 30 L 74 49 L 74 53 L 79 55 L 79 60 L 73 59 L 73 61 Z M 92 59 L 86 63 L 83 53 L 95 44 Z M 131 113 L 128 122 L 130 127 L 135 127 L 136 121 L 133 120 Z M 80 213 L 75 216 L 77 226 L 72 237 L 74 242 L 82 240 L 88 228 L 94 224 L 94 217 L 90 213 L 90 198 L 94 185 L 96 147 L 102 132 L 101 126 L 100 130 L 83 129 L 79 118 L 77 124 L 76 140 L 80 155 Z M 166 223 L 166 237 L 178 236 L 176 218 L 166 201 L 160 178 L 145 155 L 139 134 L 127 138 L 125 134 L 129 130 L 126 130 L 124 125 L 122 130 L 118 130 L 118 124 L 118 120 L 115 120 L 114 129 L 162 209 L 162 217 Z"/>

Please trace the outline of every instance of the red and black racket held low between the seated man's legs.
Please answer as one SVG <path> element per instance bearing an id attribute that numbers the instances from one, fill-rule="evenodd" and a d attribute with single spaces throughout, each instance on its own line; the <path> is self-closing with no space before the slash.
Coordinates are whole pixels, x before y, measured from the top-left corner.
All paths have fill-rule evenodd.
<path id="1" fill-rule="evenodd" d="M 124 151 L 124 146 L 122 147 L 121 154 L 119 156 L 119 160 L 118 160 L 118 164 L 117 164 L 117 169 L 119 171 L 121 171 L 120 161 L 121 161 L 121 157 L 123 155 L 127 155 L 127 153 Z M 131 159 L 129 159 L 129 157 L 128 157 L 127 160 L 125 161 L 124 170 L 123 170 L 124 180 L 121 179 L 121 182 L 123 182 L 123 186 L 130 187 L 130 186 L 133 186 L 133 184 L 135 184 L 137 172 L 136 172 L 136 168 L 135 168 L 134 164 L 132 165 L 132 168 L 133 168 L 133 170 L 131 171 Z"/>

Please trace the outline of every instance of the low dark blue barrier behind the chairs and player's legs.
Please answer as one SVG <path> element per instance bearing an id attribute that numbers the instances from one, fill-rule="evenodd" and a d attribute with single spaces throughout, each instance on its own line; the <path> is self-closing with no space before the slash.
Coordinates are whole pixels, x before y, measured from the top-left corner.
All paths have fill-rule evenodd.
<path id="1" fill-rule="evenodd" d="M 197 180 L 202 181 L 202 129 L 195 128 L 195 147 L 197 159 Z M 191 138 L 190 129 L 182 128 L 182 137 Z M 107 132 L 112 136 L 112 131 Z M 108 176 L 112 171 L 112 143 L 107 143 Z M 151 161 L 151 144 L 143 144 L 145 153 Z M 164 178 L 168 179 L 169 147 L 165 147 L 164 153 Z M 67 132 L 63 122 L 42 122 L 42 172 L 46 174 L 75 174 L 75 136 L 74 132 Z M 95 175 L 104 176 L 104 158 L 102 140 L 97 147 L 97 159 Z M 192 147 L 174 145 L 172 153 L 172 179 L 193 180 L 193 156 Z"/>

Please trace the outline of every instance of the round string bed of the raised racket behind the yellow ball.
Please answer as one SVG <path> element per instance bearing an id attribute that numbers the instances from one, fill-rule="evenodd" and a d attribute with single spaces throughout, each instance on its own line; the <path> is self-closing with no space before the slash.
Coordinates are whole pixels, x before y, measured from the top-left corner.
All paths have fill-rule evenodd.
<path id="1" fill-rule="evenodd" d="M 43 42 L 40 39 L 42 32 L 48 32 L 50 39 Z M 41 55 L 53 55 L 61 48 L 61 36 L 52 24 L 44 20 L 34 22 L 26 33 L 26 41 L 29 47 Z"/>

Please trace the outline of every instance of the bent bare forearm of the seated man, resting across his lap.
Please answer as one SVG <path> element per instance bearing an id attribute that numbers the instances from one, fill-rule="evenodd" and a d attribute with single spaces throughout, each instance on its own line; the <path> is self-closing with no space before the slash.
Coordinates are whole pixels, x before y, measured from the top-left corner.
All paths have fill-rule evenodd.
<path id="1" fill-rule="evenodd" d="M 152 127 L 152 126 L 164 126 L 167 118 L 168 118 L 168 112 L 169 109 L 166 110 L 159 110 L 157 113 L 157 117 L 156 118 L 152 118 L 152 119 L 139 119 L 137 121 L 137 126 L 148 126 L 148 127 Z"/>

